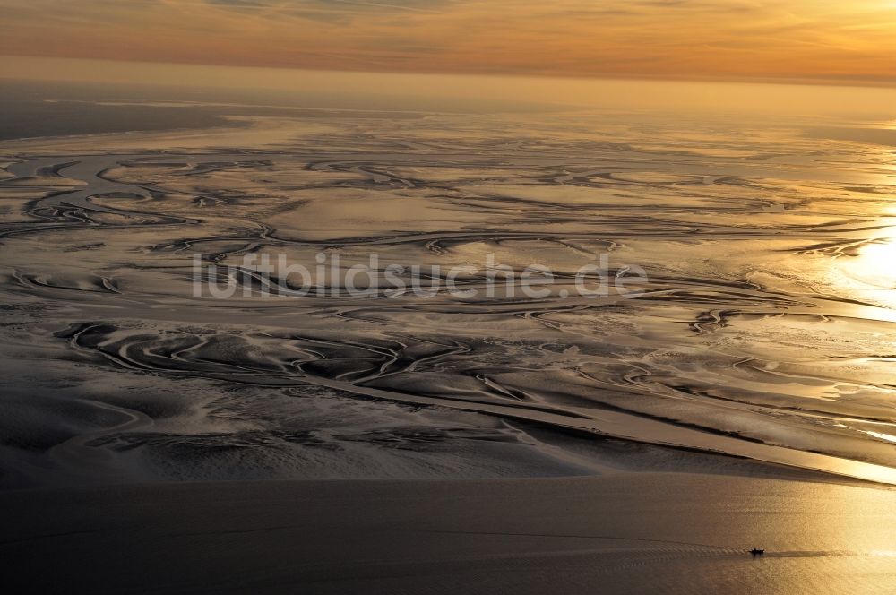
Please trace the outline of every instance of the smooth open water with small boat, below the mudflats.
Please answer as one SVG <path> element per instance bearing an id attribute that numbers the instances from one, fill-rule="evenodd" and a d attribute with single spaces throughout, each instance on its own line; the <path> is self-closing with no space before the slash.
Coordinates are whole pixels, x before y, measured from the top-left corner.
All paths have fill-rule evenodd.
<path id="1" fill-rule="evenodd" d="M 892 501 L 686 473 L 13 490 L 0 548 L 7 583 L 44 591 L 159 567 L 142 591 L 892 593 Z"/>

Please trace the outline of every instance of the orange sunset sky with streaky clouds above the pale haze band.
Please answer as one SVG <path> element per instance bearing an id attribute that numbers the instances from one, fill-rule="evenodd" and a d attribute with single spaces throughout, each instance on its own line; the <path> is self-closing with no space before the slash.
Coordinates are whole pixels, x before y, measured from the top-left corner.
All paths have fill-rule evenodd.
<path id="1" fill-rule="evenodd" d="M 0 0 L 0 55 L 896 84 L 896 0 Z"/>

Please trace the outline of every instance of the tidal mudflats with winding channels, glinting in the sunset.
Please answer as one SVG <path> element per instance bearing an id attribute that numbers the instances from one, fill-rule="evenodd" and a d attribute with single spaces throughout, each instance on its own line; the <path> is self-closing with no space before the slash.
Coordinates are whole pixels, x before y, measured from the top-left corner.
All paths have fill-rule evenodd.
<path id="1" fill-rule="evenodd" d="M 896 482 L 885 125 L 252 122 L 0 145 L 7 483 L 601 472 L 521 422 Z M 372 253 L 475 295 L 333 281 Z M 646 280 L 580 295 L 602 257 Z M 489 262 L 554 279 L 489 296 Z"/>

